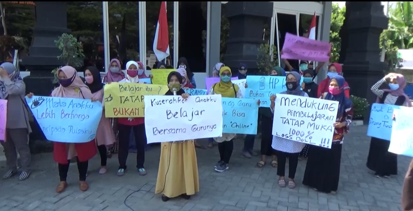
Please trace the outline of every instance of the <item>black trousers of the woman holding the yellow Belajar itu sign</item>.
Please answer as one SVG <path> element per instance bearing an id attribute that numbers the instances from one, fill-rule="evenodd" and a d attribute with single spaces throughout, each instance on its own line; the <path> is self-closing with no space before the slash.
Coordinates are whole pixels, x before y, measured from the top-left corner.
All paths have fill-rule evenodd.
<path id="1" fill-rule="evenodd" d="M 145 124 L 138 124 L 134 126 L 118 124 L 119 131 L 119 169 L 126 169 L 126 160 L 129 154 L 129 136 L 131 135 L 131 129 L 135 134 L 136 143 L 136 167 L 138 169 L 144 168 L 145 163 L 145 145 L 146 145 L 146 133 Z"/>

